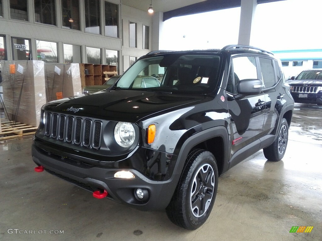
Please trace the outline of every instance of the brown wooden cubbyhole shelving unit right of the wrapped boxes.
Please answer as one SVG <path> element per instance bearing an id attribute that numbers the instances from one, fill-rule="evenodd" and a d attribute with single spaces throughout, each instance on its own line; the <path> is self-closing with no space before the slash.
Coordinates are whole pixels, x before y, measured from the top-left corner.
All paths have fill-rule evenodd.
<path id="1" fill-rule="evenodd" d="M 80 64 L 81 85 L 103 85 L 110 77 L 118 74 L 116 66 Z"/>

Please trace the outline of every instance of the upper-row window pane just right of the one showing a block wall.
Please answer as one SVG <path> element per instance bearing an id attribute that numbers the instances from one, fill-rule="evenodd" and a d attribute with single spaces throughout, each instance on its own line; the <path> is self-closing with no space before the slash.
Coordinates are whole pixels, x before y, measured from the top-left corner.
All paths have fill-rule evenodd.
<path id="1" fill-rule="evenodd" d="M 35 21 L 56 26 L 55 0 L 34 0 Z"/>

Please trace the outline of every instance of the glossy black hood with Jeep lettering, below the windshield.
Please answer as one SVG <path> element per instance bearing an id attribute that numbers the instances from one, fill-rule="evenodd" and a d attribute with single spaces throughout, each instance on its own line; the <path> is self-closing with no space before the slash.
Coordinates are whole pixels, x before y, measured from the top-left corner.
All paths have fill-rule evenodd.
<path id="1" fill-rule="evenodd" d="M 109 121 L 135 123 L 156 112 L 204 100 L 204 95 L 163 94 L 151 91 L 102 91 L 47 103 L 47 111 Z M 58 105 L 57 105 L 58 104 Z M 72 107 L 72 108 L 71 108 Z M 70 109 L 68 111 L 68 109 Z M 79 109 L 79 110 L 76 110 Z M 76 111 L 75 111 L 76 110 Z"/>

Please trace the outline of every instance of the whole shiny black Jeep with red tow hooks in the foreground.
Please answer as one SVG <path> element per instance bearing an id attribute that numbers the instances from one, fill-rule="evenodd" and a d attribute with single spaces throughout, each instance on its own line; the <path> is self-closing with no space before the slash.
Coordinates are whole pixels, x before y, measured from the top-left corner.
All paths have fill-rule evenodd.
<path id="1" fill-rule="evenodd" d="M 161 84 L 134 86 L 137 76 Z M 196 229 L 213 208 L 219 175 L 260 149 L 283 158 L 293 107 L 271 52 L 152 51 L 109 89 L 42 107 L 35 171 L 96 198 L 166 209 L 173 223 Z"/>

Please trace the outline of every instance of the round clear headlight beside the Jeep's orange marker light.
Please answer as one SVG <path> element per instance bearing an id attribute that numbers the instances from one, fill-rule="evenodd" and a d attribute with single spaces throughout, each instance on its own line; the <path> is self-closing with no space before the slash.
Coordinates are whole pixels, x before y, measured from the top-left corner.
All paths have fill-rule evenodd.
<path id="1" fill-rule="evenodd" d="M 130 147 L 135 140 L 135 129 L 129 122 L 118 122 L 114 129 L 114 138 L 121 147 Z"/>

